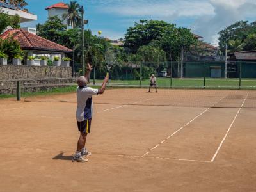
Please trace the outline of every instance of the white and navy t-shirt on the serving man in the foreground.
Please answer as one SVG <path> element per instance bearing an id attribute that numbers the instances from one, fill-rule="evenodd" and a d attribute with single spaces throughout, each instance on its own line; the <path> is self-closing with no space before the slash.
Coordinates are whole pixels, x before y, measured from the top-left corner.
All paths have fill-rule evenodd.
<path id="1" fill-rule="evenodd" d="M 98 90 L 85 86 L 84 88 L 77 87 L 77 108 L 76 108 L 76 120 L 77 122 L 83 122 L 92 118 L 93 115 L 93 103 L 92 95 L 98 95 Z"/>

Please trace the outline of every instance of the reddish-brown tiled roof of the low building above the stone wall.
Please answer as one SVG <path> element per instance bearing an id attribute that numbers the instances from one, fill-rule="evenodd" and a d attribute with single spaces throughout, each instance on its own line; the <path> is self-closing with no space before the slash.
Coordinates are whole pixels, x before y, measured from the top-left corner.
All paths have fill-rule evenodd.
<path id="1" fill-rule="evenodd" d="M 38 51 L 51 51 L 51 52 L 73 52 L 60 44 L 56 44 L 42 38 L 40 36 L 29 33 L 24 29 L 9 29 L 0 35 L 0 38 L 6 39 L 12 35 L 15 40 L 18 40 L 20 47 L 24 50 L 38 50 Z"/>

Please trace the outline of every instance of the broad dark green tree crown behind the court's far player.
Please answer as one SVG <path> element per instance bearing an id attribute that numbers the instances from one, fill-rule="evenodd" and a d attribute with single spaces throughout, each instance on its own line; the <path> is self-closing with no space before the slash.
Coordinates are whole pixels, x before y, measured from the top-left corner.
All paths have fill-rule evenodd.
<path id="1" fill-rule="evenodd" d="M 181 47 L 189 51 L 198 40 L 189 29 L 177 28 L 175 24 L 168 24 L 158 20 L 140 20 L 125 33 L 125 46 L 136 53 L 141 46 L 159 47 L 166 52 L 168 60 L 176 60 Z"/>

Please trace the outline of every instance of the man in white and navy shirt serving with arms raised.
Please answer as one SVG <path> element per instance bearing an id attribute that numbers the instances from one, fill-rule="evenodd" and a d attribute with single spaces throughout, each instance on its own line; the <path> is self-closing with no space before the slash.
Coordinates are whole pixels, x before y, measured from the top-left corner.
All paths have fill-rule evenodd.
<path id="1" fill-rule="evenodd" d="M 77 109 L 76 109 L 76 119 L 77 127 L 80 132 L 80 137 L 77 142 L 76 154 L 73 156 L 72 161 L 88 161 L 84 159 L 83 156 L 91 156 L 92 153 L 86 150 L 86 136 L 90 133 L 92 115 L 93 115 L 93 103 L 92 96 L 103 94 L 106 88 L 106 83 L 108 82 L 108 77 L 105 77 L 101 88 L 93 89 L 87 86 L 89 81 L 90 72 L 92 70 L 92 65 L 88 64 L 86 74 L 77 79 Z"/>

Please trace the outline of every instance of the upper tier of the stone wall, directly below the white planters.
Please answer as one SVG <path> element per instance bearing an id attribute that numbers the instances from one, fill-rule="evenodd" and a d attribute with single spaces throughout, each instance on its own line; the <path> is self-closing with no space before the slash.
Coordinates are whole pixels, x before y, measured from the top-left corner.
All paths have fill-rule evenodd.
<path id="1" fill-rule="evenodd" d="M 71 77 L 72 67 L 0 65 L 0 80 Z"/>

